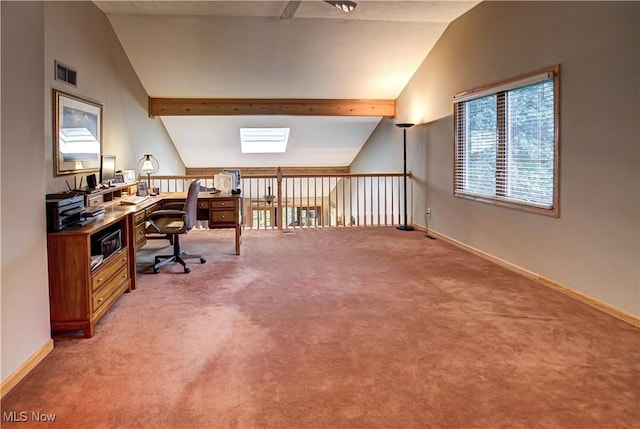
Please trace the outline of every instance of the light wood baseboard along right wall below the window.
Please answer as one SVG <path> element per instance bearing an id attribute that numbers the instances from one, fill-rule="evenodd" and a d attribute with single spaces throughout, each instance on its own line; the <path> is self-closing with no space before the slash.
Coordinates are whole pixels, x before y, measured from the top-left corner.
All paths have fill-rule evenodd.
<path id="1" fill-rule="evenodd" d="M 423 231 L 426 232 L 426 228 L 422 225 L 417 225 L 414 224 L 415 228 L 419 231 Z M 593 307 L 597 310 L 600 310 L 604 313 L 607 313 L 615 318 L 618 318 L 620 320 L 623 320 L 627 323 L 629 323 L 630 325 L 633 325 L 637 328 L 640 328 L 640 317 L 635 316 L 631 313 L 627 313 L 624 310 L 620 310 L 618 308 L 615 308 L 607 303 L 604 303 L 602 301 L 599 301 L 593 297 L 590 297 L 588 295 L 583 294 L 582 292 L 578 292 L 575 289 L 572 289 L 568 286 L 562 285 L 558 282 L 555 282 L 551 279 L 548 279 L 544 276 L 541 276 L 537 273 L 534 273 L 532 271 L 529 271 L 525 268 L 522 268 L 518 265 L 512 264 L 511 262 L 505 261 L 504 259 L 500 259 L 496 256 L 493 256 L 489 253 L 486 253 L 482 250 L 476 249 L 475 247 L 469 246 L 468 244 L 462 243 L 461 241 L 458 241 L 456 239 L 453 239 L 449 236 L 446 236 L 444 234 L 441 234 L 439 232 L 433 231 L 432 229 L 429 229 L 428 234 L 431 237 L 435 237 L 437 239 L 440 239 L 442 241 L 446 241 L 447 243 L 453 244 L 456 247 L 459 247 L 461 249 L 464 249 L 468 252 L 473 253 L 474 255 L 478 255 L 483 259 L 486 259 L 490 262 L 493 262 L 496 265 L 500 265 L 501 267 L 504 267 L 510 271 L 516 272 L 524 277 L 527 277 L 529 279 L 535 280 L 536 282 L 542 284 L 543 286 L 546 286 L 548 288 L 551 288 L 555 291 L 558 291 L 564 295 L 567 295 L 577 301 L 582 302 L 583 304 L 586 304 L 590 307 Z"/>

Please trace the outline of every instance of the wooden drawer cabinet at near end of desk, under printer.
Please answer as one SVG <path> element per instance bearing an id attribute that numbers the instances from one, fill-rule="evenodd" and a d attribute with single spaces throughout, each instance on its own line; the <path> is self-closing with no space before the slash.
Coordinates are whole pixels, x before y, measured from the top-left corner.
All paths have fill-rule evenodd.
<path id="1" fill-rule="evenodd" d="M 91 269 L 91 248 L 107 231 L 120 230 L 120 248 Z M 96 323 L 130 290 L 135 265 L 129 256 L 126 213 L 105 213 L 76 230 L 47 234 L 49 307 L 52 331 L 82 330 L 89 338 Z"/>

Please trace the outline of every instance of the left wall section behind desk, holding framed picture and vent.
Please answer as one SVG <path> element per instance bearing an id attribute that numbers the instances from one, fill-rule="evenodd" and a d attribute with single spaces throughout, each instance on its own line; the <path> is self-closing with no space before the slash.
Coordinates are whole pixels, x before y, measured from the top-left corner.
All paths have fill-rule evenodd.
<path id="1" fill-rule="evenodd" d="M 55 60 L 77 70 L 77 87 L 54 80 Z M 47 192 L 60 192 L 65 180 L 73 181 L 53 177 L 51 88 L 103 105 L 103 153 L 116 155 L 118 169 L 137 170 L 140 158 L 151 153 L 160 161 L 159 174 L 185 173 L 162 121 L 148 117 L 147 93 L 109 20 L 92 2 L 45 2 L 44 79 Z"/>

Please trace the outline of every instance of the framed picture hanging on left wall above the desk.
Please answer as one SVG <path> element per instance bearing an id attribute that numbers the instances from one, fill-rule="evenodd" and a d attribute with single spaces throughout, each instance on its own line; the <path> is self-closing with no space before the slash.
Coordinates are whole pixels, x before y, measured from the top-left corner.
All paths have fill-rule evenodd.
<path id="1" fill-rule="evenodd" d="M 56 176 L 100 171 L 102 105 L 53 90 L 53 162 Z"/>

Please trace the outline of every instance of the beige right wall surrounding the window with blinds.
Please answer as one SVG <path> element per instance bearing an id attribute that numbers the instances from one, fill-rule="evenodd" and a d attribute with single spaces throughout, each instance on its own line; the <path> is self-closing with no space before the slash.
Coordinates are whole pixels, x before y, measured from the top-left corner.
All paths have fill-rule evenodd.
<path id="1" fill-rule="evenodd" d="M 454 21 L 398 99 L 398 120 L 422 124 L 416 223 L 429 207 L 430 228 L 640 315 L 639 32 L 638 2 L 483 2 Z M 454 198 L 453 94 L 556 63 L 560 217 Z M 354 165 L 398 156 L 389 127 Z"/>

